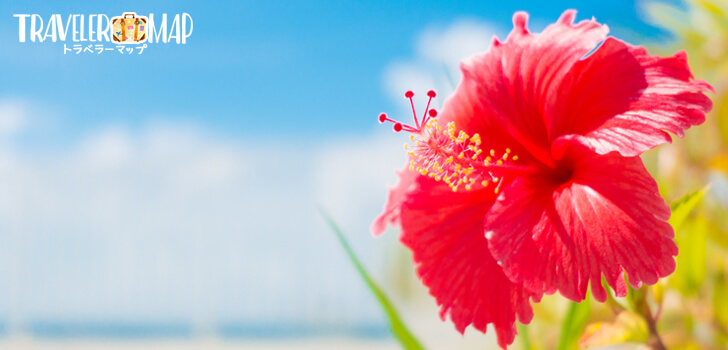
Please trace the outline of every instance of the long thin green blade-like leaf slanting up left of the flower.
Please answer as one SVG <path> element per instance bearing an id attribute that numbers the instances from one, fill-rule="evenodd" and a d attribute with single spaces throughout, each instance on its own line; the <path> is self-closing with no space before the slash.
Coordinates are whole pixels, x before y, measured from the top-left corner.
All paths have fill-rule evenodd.
<path id="1" fill-rule="evenodd" d="M 369 273 L 364 269 L 364 266 L 362 266 L 361 262 L 359 262 L 359 259 L 354 254 L 354 251 L 351 249 L 351 246 L 349 246 L 349 243 L 346 241 L 346 238 L 344 237 L 344 234 L 339 229 L 339 226 L 336 225 L 333 219 L 326 214 L 325 212 L 321 212 L 326 219 L 326 222 L 329 224 L 329 227 L 336 233 L 336 237 L 339 239 L 339 242 L 341 243 L 341 246 L 344 248 L 344 251 L 346 251 L 346 255 L 349 256 L 349 260 L 354 264 L 354 267 L 356 267 L 356 270 L 359 272 L 359 275 L 362 277 L 364 282 L 366 283 L 367 287 L 369 287 L 369 290 L 374 294 L 374 296 L 377 298 L 377 301 L 379 302 L 379 306 L 382 307 L 384 310 L 384 313 L 387 315 L 387 319 L 389 320 L 389 327 L 392 331 L 392 334 L 394 334 L 395 338 L 399 341 L 399 343 L 402 345 L 404 349 L 407 350 L 421 350 L 424 349 L 424 347 L 420 344 L 420 342 L 410 333 L 410 331 L 405 326 L 404 322 L 402 322 L 402 319 L 399 317 L 399 314 L 397 313 L 397 310 L 394 308 L 392 303 L 389 301 L 387 296 L 384 294 L 381 288 L 374 282 L 374 280 L 369 276 Z"/>

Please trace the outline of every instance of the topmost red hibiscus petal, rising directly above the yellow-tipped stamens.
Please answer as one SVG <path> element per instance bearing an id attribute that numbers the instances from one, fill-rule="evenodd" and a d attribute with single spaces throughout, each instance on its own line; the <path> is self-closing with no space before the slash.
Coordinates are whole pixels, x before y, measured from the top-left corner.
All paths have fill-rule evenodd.
<path id="1" fill-rule="evenodd" d="M 526 29 L 528 15 L 518 12 L 505 42 L 494 41 L 487 53 L 462 64 L 463 84 L 473 82 L 478 103 L 485 111 L 478 118 L 496 119 L 545 164 L 553 164 L 552 123 L 544 114 L 549 94 L 608 32 L 606 26 L 593 20 L 573 25 L 575 15 L 573 10 L 566 11 L 557 23 L 534 35 Z M 489 135 L 481 133 L 484 138 Z"/>

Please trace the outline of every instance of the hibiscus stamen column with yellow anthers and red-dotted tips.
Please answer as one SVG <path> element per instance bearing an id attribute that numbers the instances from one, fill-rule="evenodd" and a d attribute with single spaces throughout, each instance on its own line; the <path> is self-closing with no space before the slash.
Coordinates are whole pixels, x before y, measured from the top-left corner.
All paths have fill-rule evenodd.
<path id="1" fill-rule="evenodd" d="M 472 190 L 495 184 L 493 191 L 496 194 L 503 186 L 504 177 L 532 171 L 530 167 L 516 165 L 518 156 L 512 155 L 509 148 L 502 152 L 491 149 L 485 153 L 479 134 L 470 136 L 463 130 L 458 131 L 455 122 L 449 122 L 443 128 L 435 118 L 437 111 L 430 109 L 435 91 L 427 93 L 427 107 L 422 119 L 418 120 L 413 96 L 412 91 L 405 93 L 412 105 L 414 126 L 390 119 L 386 113 L 379 115 L 380 123 L 391 122 L 394 131 L 404 130 L 411 134 L 413 144 L 405 144 L 410 156 L 410 171 L 443 181 L 456 192 L 461 188 Z"/>

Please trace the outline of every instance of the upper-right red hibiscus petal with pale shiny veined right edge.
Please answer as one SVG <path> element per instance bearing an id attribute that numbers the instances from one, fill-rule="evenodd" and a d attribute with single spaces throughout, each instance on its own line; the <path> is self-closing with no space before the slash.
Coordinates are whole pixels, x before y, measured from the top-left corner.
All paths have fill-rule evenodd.
<path id="1" fill-rule="evenodd" d="M 554 141 L 554 157 L 574 143 L 599 154 L 636 156 L 671 142 L 666 131 L 682 137 L 705 121 L 712 107 L 707 91 L 713 91 L 710 85 L 693 80 L 684 52 L 659 58 L 608 38 L 554 89 L 557 102 L 547 114 L 555 135 L 562 135 Z"/>

